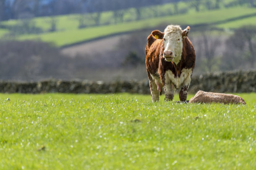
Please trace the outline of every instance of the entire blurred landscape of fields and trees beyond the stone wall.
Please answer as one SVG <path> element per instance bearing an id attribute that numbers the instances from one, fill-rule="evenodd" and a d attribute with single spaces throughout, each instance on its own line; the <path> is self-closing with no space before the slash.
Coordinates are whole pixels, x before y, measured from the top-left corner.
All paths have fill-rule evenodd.
<path id="1" fill-rule="evenodd" d="M 146 38 L 191 27 L 194 75 L 255 69 L 254 0 L 1 0 L 0 79 L 146 79 Z"/>

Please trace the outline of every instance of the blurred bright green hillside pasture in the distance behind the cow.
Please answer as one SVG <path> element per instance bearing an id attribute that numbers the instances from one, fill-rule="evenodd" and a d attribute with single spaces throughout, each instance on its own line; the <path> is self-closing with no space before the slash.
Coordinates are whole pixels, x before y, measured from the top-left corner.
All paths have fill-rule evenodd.
<path id="1" fill-rule="evenodd" d="M 180 6 L 182 7 L 182 4 Z M 168 11 L 168 8 L 166 7 L 172 7 L 173 9 L 172 4 L 167 4 L 155 8 L 164 9 L 164 13 Z M 146 11 L 150 10 L 151 8 L 148 7 L 144 8 L 143 10 Z M 209 24 L 211 27 L 224 29 L 238 28 L 241 25 L 246 24 L 256 25 L 256 8 L 248 7 L 221 8 L 219 10 L 202 10 L 200 12 L 195 12 L 195 10 L 188 10 L 187 13 L 180 15 L 167 15 L 162 17 L 152 16 L 152 18 L 146 18 L 146 16 L 144 16 L 141 20 L 135 20 L 133 18 L 134 15 L 132 15 L 132 12 L 133 9 L 130 10 L 130 13 L 127 13 L 124 16 L 124 22 L 118 24 L 113 23 L 114 21 L 111 12 L 102 13 L 100 26 L 93 26 L 93 20 L 89 20 L 89 17 L 84 15 L 84 18 L 87 18 L 85 21 L 88 26 L 83 29 L 78 29 L 78 18 L 81 16 L 77 14 L 56 16 L 54 18 L 54 20 L 56 20 L 55 32 L 47 32 L 47 30 L 49 30 L 51 27 L 51 18 L 34 18 L 33 23 L 35 23 L 36 27 L 40 27 L 43 30 L 43 33 L 29 35 L 23 34 L 21 36 L 16 36 L 16 38 L 19 40 L 41 39 L 42 41 L 51 42 L 56 46 L 61 47 L 117 33 L 125 33 L 145 28 L 153 29 L 161 24 L 179 24 L 190 26 Z M 17 20 L 12 20 L 2 22 L 2 24 L 15 25 L 17 22 Z M 7 30 L 0 30 L 0 36 L 3 36 L 6 32 Z"/>

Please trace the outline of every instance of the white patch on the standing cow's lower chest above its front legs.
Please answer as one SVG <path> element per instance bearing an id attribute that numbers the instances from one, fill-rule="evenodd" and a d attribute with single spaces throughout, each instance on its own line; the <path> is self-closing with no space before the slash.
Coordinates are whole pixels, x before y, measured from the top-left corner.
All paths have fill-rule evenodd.
<path id="1" fill-rule="evenodd" d="M 182 69 L 180 76 L 175 77 L 171 70 L 166 71 L 165 81 L 171 81 L 176 88 L 181 85 L 189 85 L 191 81 L 192 69 Z"/>

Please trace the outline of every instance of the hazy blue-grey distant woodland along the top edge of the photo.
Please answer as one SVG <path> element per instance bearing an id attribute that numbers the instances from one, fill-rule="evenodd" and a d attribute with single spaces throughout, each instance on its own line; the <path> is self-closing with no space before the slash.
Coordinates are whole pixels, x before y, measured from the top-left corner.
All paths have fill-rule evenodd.
<path id="1" fill-rule="evenodd" d="M 0 21 L 72 13 L 96 13 L 94 18 L 100 18 L 103 11 L 114 11 L 118 16 L 128 8 L 135 8 L 139 20 L 142 7 L 174 3 L 178 9 L 179 2 L 187 3 L 196 11 L 202 6 L 208 10 L 220 8 L 220 4 L 225 3 L 224 0 L 0 0 Z M 232 0 L 225 3 L 225 7 L 244 4 L 256 6 L 254 0 Z"/>

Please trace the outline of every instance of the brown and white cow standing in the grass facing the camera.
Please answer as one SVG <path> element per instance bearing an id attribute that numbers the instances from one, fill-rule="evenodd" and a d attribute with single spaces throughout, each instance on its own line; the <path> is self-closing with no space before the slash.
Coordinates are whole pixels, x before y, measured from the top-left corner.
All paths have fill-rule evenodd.
<path id="1" fill-rule="evenodd" d="M 187 100 L 187 90 L 195 67 L 195 51 L 187 38 L 190 27 L 168 25 L 164 33 L 154 30 L 147 39 L 146 69 L 152 101 L 159 101 L 164 87 L 165 100 L 172 100 L 179 89 L 180 101 Z"/>

